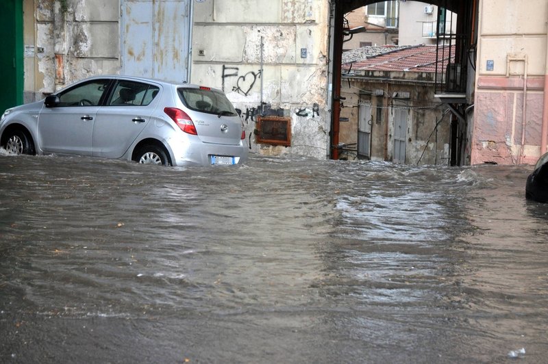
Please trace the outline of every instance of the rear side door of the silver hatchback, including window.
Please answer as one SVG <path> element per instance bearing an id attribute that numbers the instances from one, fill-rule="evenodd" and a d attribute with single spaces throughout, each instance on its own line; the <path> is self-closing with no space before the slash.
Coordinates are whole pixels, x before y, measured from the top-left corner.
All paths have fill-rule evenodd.
<path id="1" fill-rule="evenodd" d="M 116 81 L 93 125 L 92 155 L 120 158 L 147 126 L 160 87 L 145 82 Z"/>

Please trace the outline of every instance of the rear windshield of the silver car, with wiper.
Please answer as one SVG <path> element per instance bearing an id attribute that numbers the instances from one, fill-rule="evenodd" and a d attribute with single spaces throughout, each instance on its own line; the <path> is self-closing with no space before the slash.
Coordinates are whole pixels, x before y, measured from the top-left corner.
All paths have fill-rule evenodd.
<path id="1" fill-rule="evenodd" d="M 236 109 L 227 96 L 210 88 L 179 88 L 179 98 L 189 109 L 208 114 L 236 116 Z"/>

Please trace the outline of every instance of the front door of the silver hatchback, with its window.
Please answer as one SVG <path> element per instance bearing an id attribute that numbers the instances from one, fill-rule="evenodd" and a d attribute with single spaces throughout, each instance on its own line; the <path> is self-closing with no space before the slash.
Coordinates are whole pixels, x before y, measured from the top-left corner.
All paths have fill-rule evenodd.
<path id="1" fill-rule="evenodd" d="M 78 83 L 58 94 L 59 103 L 38 114 L 38 145 L 46 153 L 92 154 L 95 115 L 110 79 Z"/>

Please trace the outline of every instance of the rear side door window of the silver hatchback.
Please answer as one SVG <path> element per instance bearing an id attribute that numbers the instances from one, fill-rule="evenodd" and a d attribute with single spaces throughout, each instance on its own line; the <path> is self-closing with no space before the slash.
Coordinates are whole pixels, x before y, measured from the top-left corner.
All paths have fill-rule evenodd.
<path id="1" fill-rule="evenodd" d="M 121 80 L 116 83 L 108 105 L 146 106 L 160 91 L 158 86 L 148 83 Z"/>

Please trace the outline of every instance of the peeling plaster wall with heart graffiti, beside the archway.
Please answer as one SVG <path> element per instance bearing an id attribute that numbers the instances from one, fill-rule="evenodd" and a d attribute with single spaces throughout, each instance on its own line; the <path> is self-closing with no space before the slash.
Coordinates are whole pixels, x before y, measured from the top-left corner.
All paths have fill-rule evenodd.
<path id="1" fill-rule="evenodd" d="M 204 0 L 194 6 L 192 83 L 224 90 L 240 111 L 252 151 L 325 158 L 329 3 Z M 261 109 L 291 118 L 290 147 L 256 144 Z"/>

